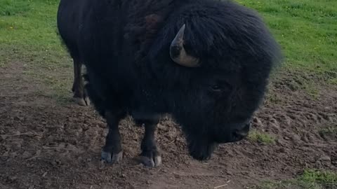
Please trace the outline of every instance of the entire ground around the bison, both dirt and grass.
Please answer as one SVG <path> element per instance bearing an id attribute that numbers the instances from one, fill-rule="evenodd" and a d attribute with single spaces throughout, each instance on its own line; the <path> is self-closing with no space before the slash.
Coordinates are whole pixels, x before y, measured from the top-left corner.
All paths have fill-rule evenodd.
<path id="1" fill-rule="evenodd" d="M 100 167 L 105 122 L 71 101 L 58 1 L 1 1 L 0 188 L 337 188 L 337 2 L 239 3 L 262 13 L 286 55 L 249 139 L 198 162 L 164 118 L 163 165 L 147 168 L 134 160 L 143 130 L 131 118 L 120 124 L 124 161 Z"/>

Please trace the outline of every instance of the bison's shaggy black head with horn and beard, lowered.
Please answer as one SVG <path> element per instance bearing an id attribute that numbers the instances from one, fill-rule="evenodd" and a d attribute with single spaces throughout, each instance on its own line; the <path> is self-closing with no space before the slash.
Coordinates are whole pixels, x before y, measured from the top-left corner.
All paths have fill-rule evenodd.
<path id="1" fill-rule="evenodd" d="M 217 144 L 247 136 L 280 55 L 255 13 L 234 5 L 207 6 L 172 17 L 152 46 L 150 61 L 197 160 L 210 158 Z"/>

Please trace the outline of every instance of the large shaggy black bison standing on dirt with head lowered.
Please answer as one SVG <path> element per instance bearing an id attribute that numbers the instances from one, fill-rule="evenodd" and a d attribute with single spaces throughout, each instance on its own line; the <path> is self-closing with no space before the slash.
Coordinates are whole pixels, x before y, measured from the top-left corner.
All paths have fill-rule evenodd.
<path id="1" fill-rule="evenodd" d="M 107 120 L 106 162 L 122 158 L 119 121 L 144 125 L 141 159 L 161 163 L 161 115 L 182 126 L 190 155 L 240 141 L 262 102 L 279 46 L 259 16 L 232 1 L 62 0 L 58 29 Z"/>

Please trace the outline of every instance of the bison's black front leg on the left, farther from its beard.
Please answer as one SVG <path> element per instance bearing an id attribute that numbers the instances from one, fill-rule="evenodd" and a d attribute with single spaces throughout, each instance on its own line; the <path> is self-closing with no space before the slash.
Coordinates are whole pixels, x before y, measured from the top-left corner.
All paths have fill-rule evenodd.
<path id="1" fill-rule="evenodd" d="M 121 148 L 121 134 L 119 133 L 119 120 L 123 118 L 124 113 L 112 113 L 112 111 L 105 112 L 105 118 L 109 127 L 109 132 L 105 139 L 105 146 L 102 150 L 101 158 L 105 162 L 120 162 L 123 158 L 123 151 Z"/>

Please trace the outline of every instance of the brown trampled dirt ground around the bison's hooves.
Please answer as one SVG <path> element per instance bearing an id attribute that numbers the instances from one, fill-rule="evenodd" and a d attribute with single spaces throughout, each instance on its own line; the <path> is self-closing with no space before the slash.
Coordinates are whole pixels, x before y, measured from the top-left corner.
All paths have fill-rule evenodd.
<path id="1" fill-rule="evenodd" d="M 272 102 L 253 119 L 253 129 L 276 143 L 223 144 L 207 162 L 190 158 L 178 125 L 165 118 L 157 133 L 163 165 L 138 164 L 143 130 L 128 118 L 120 124 L 123 162 L 100 167 L 104 120 L 91 107 L 56 102 L 23 69 L 16 62 L 0 69 L 0 188 L 239 189 L 295 178 L 305 168 L 337 171 L 336 134 L 319 132 L 337 126 L 336 89 L 321 86 L 313 100 L 291 87 L 291 76 L 277 80 Z"/>

